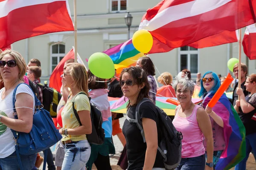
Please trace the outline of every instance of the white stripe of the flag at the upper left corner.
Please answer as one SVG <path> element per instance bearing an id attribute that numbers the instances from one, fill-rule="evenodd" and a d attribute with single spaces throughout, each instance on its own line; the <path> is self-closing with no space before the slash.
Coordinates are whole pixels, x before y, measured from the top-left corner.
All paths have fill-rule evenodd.
<path id="1" fill-rule="evenodd" d="M 66 1 L 66 0 L 5 0 L 0 2 L 0 18 L 6 17 L 9 12 L 26 6 L 33 6 L 45 3 L 52 3 L 56 1 Z"/>

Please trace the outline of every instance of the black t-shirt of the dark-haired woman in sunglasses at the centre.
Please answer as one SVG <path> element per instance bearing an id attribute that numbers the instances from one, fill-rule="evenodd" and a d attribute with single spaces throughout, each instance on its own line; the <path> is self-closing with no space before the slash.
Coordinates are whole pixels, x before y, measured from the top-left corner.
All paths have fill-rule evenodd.
<path id="1" fill-rule="evenodd" d="M 136 106 L 131 106 L 128 109 L 127 116 L 130 119 L 135 119 Z M 153 103 L 145 102 L 140 106 L 140 118 L 149 118 L 154 120 L 159 126 L 157 110 Z M 128 157 L 128 170 L 142 170 L 145 161 L 145 153 L 147 144 L 143 142 L 140 130 L 136 123 L 130 123 L 127 119 L 124 122 L 122 131 L 126 139 L 127 157 Z M 157 129 L 158 145 L 162 139 L 159 128 Z M 154 167 L 164 168 L 163 157 L 157 150 L 157 156 Z"/>

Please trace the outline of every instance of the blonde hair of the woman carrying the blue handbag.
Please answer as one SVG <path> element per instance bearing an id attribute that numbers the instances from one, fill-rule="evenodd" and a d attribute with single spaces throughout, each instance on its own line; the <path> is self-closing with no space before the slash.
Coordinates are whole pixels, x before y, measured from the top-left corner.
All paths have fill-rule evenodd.
<path id="1" fill-rule="evenodd" d="M 13 51 L 11 49 L 6 49 L 0 54 L 0 60 L 3 59 L 4 56 L 10 55 L 14 58 L 14 60 L 17 63 L 18 69 L 19 69 L 19 74 L 18 74 L 18 79 L 21 81 L 23 80 L 24 75 L 26 74 L 26 62 L 25 59 L 21 56 L 21 54 L 17 51 Z M 0 81 L 3 81 L 3 77 L 0 74 Z"/>

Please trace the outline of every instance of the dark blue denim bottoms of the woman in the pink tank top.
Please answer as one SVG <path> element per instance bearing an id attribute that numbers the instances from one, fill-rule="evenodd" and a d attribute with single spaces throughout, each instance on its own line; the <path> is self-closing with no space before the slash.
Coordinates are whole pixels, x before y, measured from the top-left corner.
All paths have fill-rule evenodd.
<path id="1" fill-rule="evenodd" d="M 193 158 L 181 158 L 175 170 L 204 170 L 205 161 L 205 154 Z"/>

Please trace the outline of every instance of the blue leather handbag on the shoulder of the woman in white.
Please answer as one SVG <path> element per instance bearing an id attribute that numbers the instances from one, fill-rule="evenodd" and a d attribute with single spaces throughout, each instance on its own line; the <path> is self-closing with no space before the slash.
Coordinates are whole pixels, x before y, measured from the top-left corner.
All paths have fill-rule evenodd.
<path id="1" fill-rule="evenodd" d="M 16 112 L 15 95 L 16 95 L 17 87 L 21 84 L 25 84 L 25 83 L 18 84 L 13 92 L 14 112 Z M 18 119 L 17 114 L 15 115 L 15 119 Z M 52 118 L 49 112 L 44 110 L 43 105 L 41 105 L 41 102 L 37 99 L 36 96 L 35 96 L 35 114 L 33 115 L 32 130 L 29 133 L 23 133 L 23 132 L 12 130 L 12 133 L 15 139 L 15 149 L 16 149 L 20 170 L 23 170 L 23 167 L 22 167 L 19 155 L 33 155 L 41 151 L 44 151 L 44 168 L 45 168 L 46 159 L 47 159 L 46 158 L 47 149 L 53 146 L 54 144 L 56 144 L 62 138 L 61 134 L 54 126 L 54 123 L 52 121 Z"/>

